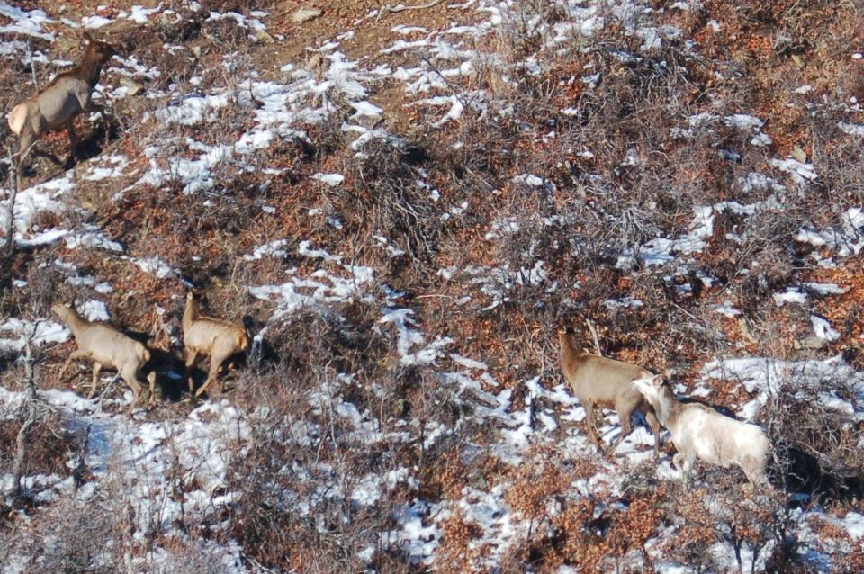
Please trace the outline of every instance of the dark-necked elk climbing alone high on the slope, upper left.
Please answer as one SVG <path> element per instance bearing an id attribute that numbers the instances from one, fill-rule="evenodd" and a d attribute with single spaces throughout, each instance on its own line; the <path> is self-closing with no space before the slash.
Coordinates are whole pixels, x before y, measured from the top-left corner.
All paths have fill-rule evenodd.
<path id="1" fill-rule="evenodd" d="M 107 42 L 94 40 L 85 32 L 87 49 L 76 67 L 60 72 L 36 94 L 17 104 L 9 112 L 9 128 L 18 136 L 17 165 L 30 154 L 36 142 L 47 132 L 66 129 L 69 136 L 69 159 L 76 155 L 78 137 L 73 122 L 81 112 L 101 110 L 90 97 L 105 63 L 119 50 Z M 55 164 L 60 160 L 48 151 L 34 151 L 34 155 L 48 157 Z"/>

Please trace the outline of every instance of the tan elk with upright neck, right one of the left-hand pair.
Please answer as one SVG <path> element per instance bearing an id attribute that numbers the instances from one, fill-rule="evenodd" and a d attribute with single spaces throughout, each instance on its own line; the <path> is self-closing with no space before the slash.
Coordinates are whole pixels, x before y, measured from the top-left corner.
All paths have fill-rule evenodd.
<path id="1" fill-rule="evenodd" d="M 195 393 L 195 397 L 200 397 L 211 382 L 216 380 L 222 363 L 231 355 L 245 351 L 249 346 L 249 337 L 243 327 L 218 318 L 202 317 L 200 304 L 201 301 L 194 291 L 186 294 L 186 309 L 183 312 L 183 345 L 190 395 L 194 390 L 194 381 L 189 375 L 189 369 L 192 368 L 199 354 L 210 356 L 207 379 Z"/>

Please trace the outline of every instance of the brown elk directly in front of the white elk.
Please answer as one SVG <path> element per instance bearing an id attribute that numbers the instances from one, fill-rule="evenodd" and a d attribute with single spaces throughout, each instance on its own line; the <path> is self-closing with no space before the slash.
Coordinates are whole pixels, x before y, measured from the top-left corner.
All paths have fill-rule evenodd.
<path id="1" fill-rule="evenodd" d="M 610 453 L 614 453 L 621 441 L 633 431 L 630 417 L 638 409 L 654 434 L 656 459 L 660 453 L 660 422 L 653 408 L 631 384 L 635 378 L 650 377 L 652 373 L 632 364 L 586 352 L 577 345 L 572 327 L 558 329 L 558 344 L 561 347 L 561 372 L 585 408 L 585 424 L 594 443 L 600 445 L 594 427 L 595 407 L 615 408 L 621 421 L 621 435 L 609 449 Z"/>

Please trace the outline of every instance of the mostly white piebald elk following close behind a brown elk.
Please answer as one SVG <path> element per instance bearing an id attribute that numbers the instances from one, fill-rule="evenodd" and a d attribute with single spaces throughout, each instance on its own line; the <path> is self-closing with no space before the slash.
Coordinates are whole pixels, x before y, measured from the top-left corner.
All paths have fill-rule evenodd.
<path id="1" fill-rule="evenodd" d="M 682 403 L 660 375 L 633 381 L 669 429 L 678 450 L 672 458 L 685 480 L 699 459 L 728 468 L 737 464 L 754 486 L 770 488 L 765 465 L 771 451 L 768 436 L 760 426 L 725 417 L 698 403 Z"/>

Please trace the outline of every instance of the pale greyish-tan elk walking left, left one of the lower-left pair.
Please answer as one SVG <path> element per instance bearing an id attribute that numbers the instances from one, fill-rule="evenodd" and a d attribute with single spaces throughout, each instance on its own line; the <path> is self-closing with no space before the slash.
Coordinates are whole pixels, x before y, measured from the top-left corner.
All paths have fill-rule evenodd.
<path id="1" fill-rule="evenodd" d="M 93 364 L 93 381 L 87 399 L 93 399 L 96 394 L 96 384 L 103 367 L 112 367 L 120 373 L 123 381 L 129 385 L 135 396 L 129 406 L 129 413 L 138 405 L 141 396 L 141 384 L 138 381 L 141 369 L 149 362 L 150 352 L 138 341 L 123 335 L 120 331 L 102 322 L 91 322 L 81 317 L 70 304 L 57 303 L 51 310 L 66 323 L 78 348 L 69 355 L 58 378 L 62 380 L 69 363 L 73 359 L 90 359 Z M 156 371 L 150 371 L 147 377 L 149 383 L 149 403 L 156 399 Z"/>

